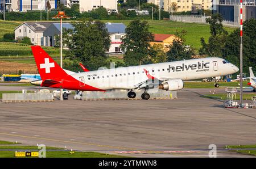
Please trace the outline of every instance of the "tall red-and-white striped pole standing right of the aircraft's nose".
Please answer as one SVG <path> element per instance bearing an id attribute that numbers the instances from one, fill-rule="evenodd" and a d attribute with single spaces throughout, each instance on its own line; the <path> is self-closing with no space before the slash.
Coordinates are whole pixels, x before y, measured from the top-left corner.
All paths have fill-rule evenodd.
<path id="1" fill-rule="evenodd" d="M 240 104 L 243 102 L 243 0 L 240 0 Z"/>

